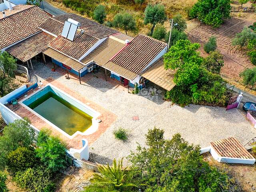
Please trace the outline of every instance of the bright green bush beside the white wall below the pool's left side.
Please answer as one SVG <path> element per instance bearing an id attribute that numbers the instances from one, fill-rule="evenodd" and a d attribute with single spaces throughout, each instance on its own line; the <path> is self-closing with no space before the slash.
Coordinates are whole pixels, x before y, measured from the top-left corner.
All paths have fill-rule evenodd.
<path id="1" fill-rule="evenodd" d="M 38 134 L 36 157 L 52 172 L 66 167 L 66 144 L 50 131 L 41 130 Z"/>

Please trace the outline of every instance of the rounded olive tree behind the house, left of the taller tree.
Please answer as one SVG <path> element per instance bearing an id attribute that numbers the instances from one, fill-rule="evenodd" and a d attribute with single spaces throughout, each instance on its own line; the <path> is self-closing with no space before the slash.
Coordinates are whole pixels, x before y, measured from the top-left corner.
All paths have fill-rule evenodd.
<path id="1" fill-rule="evenodd" d="M 129 13 L 123 12 L 118 13 L 114 16 L 114 20 L 112 22 L 113 26 L 116 28 L 124 29 L 127 35 L 128 30 L 135 30 L 136 22 L 133 16 Z"/>

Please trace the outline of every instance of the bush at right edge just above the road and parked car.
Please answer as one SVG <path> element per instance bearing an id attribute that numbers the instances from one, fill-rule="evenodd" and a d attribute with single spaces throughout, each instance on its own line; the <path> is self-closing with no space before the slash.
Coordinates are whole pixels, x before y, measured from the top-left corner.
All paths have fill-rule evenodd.
<path id="1" fill-rule="evenodd" d="M 250 88 L 254 88 L 256 83 L 256 67 L 252 69 L 246 69 L 239 74 L 242 77 L 242 83 Z"/>

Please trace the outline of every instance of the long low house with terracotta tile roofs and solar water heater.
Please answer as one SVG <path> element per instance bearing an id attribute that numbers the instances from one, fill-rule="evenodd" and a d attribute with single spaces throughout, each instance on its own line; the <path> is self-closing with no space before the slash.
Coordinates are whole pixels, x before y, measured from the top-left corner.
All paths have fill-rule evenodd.
<path id="1" fill-rule="evenodd" d="M 79 78 L 94 68 L 104 68 L 106 74 L 124 86 L 138 84 L 142 88 L 151 77 L 155 84 L 164 84 L 162 87 L 166 90 L 175 86 L 173 73 L 163 67 L 162 56 L 167 50 L 164 42 L 143 34 L 133 38 L 76 14 L 51 16 L 37 6 L 16 7 L 13 14 L 0 18 L 0 49 L 24 65 L 32 66 L 31 58 L 42 55 L 44 62 L 46 57 L 50 58 L 54 66 L 58 65 Z M 35 11 L 38 12 L 35 14 Z M 18 18 L 18 22 L 13 21 Z M 24 26 L 21 23 L 28 24 L 26 30 L 24 27 L 19 29 L 18 25 Z M 16 30 L 6 34 L 10 26 Z M 160 68 L 154 67 L 156 64 Z M 158 78 L 150 75 L 156 73 L 156 68 Z M 144 77 L 146 71 L 147 78 Z M 168 86 L 162 79 L 166 76 L 170 79 Z"/>

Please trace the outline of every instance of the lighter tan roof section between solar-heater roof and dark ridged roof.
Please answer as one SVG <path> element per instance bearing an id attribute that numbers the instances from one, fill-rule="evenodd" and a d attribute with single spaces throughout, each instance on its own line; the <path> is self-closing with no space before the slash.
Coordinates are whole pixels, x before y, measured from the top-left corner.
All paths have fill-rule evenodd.
<path id="1" fill-rule="evenodd" d="M 107 38 L 94 51 L 82 59 L 82 63 L 86 64 L 94 61 L 96 64 L 102 66 L 106 64 L 114 54 L 116 54 L 125 44 L 111 38 Z"/>

